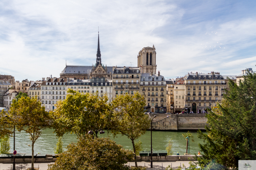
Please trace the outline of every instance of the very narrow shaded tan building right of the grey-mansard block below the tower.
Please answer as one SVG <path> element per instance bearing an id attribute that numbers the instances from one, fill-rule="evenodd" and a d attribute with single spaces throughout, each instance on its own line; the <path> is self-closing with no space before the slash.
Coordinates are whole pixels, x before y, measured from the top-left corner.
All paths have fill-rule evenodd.
<path id="1" fill-rule="evenodd" d="M 174 80 L 166 80 L 166 109 L 174 112 Z"/>

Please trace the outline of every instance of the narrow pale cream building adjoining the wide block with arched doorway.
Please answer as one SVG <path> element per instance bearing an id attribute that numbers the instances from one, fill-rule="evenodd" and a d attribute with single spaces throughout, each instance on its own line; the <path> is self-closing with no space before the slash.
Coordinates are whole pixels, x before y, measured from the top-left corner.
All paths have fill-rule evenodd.
<path id="1" fill-rule="evenodd" d="M 185 84 L 184 79 L 179 78 L 174 83 L 174 112 L 180 113 L 185 105 Z"/>

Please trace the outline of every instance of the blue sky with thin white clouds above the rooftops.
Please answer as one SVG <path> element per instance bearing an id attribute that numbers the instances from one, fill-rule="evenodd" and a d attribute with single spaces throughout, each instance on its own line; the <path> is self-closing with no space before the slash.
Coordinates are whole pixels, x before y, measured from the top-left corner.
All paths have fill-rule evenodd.
<path id="1" fill-rule="evenodd" d="M 1 0 L 0 74 L 59 77 L 67 65 L 137 66 L 153 44 L 166 79 L 256 65 L 253 0 Z"/>

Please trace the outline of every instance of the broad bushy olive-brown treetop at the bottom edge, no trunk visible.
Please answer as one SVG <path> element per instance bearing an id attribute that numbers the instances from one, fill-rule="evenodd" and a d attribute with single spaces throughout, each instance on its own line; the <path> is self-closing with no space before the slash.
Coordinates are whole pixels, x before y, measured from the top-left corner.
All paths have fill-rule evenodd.
<path id="1" fill-rule="evenodd" d="M 68 145 L 67 151 L 61 153 L 54 164 L 48 165 L 48 170 L 128 170 L 124 158 L 131 160 L 132 151 L 109 138 L 92 139 L 85 135 L 77 143 Z"/>

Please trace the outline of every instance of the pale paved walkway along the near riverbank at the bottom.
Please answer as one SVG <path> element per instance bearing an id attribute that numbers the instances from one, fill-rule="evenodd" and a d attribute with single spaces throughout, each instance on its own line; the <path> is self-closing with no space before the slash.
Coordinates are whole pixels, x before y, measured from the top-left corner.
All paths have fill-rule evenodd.
<path id="1" fill-rule="evenodd" d="M 54 162 L 50 163 L 34 163 L 34 167 L 39 166 L 39 170 L 47 170 L 48 169 L 48 164 L 51 164 Z M 178 167 L 182 166 L 182 164 L 186 167 L 189 166 L 189 161 L 174 161 L 174 162 L 153 162 L 153 168 L 150 168 L 150 161 L 149 162 L 138 162 L 138 166 L 147 166 L 148 170 L 161 170 L 165 169 L 168 165 L 172 165 L 172 167 Z M 127 165 L 130 166 L 135 166 L 135 162 L 128 162 Z M 12 163 L 0 163 L 0 170 L 11 170 Z M 31 167 L 31 163 L 16 163 L 15 169 L 16 170 L 26 170 L 27 168 Z M 163 168 L 162 168 L 163 167 Z"/>

